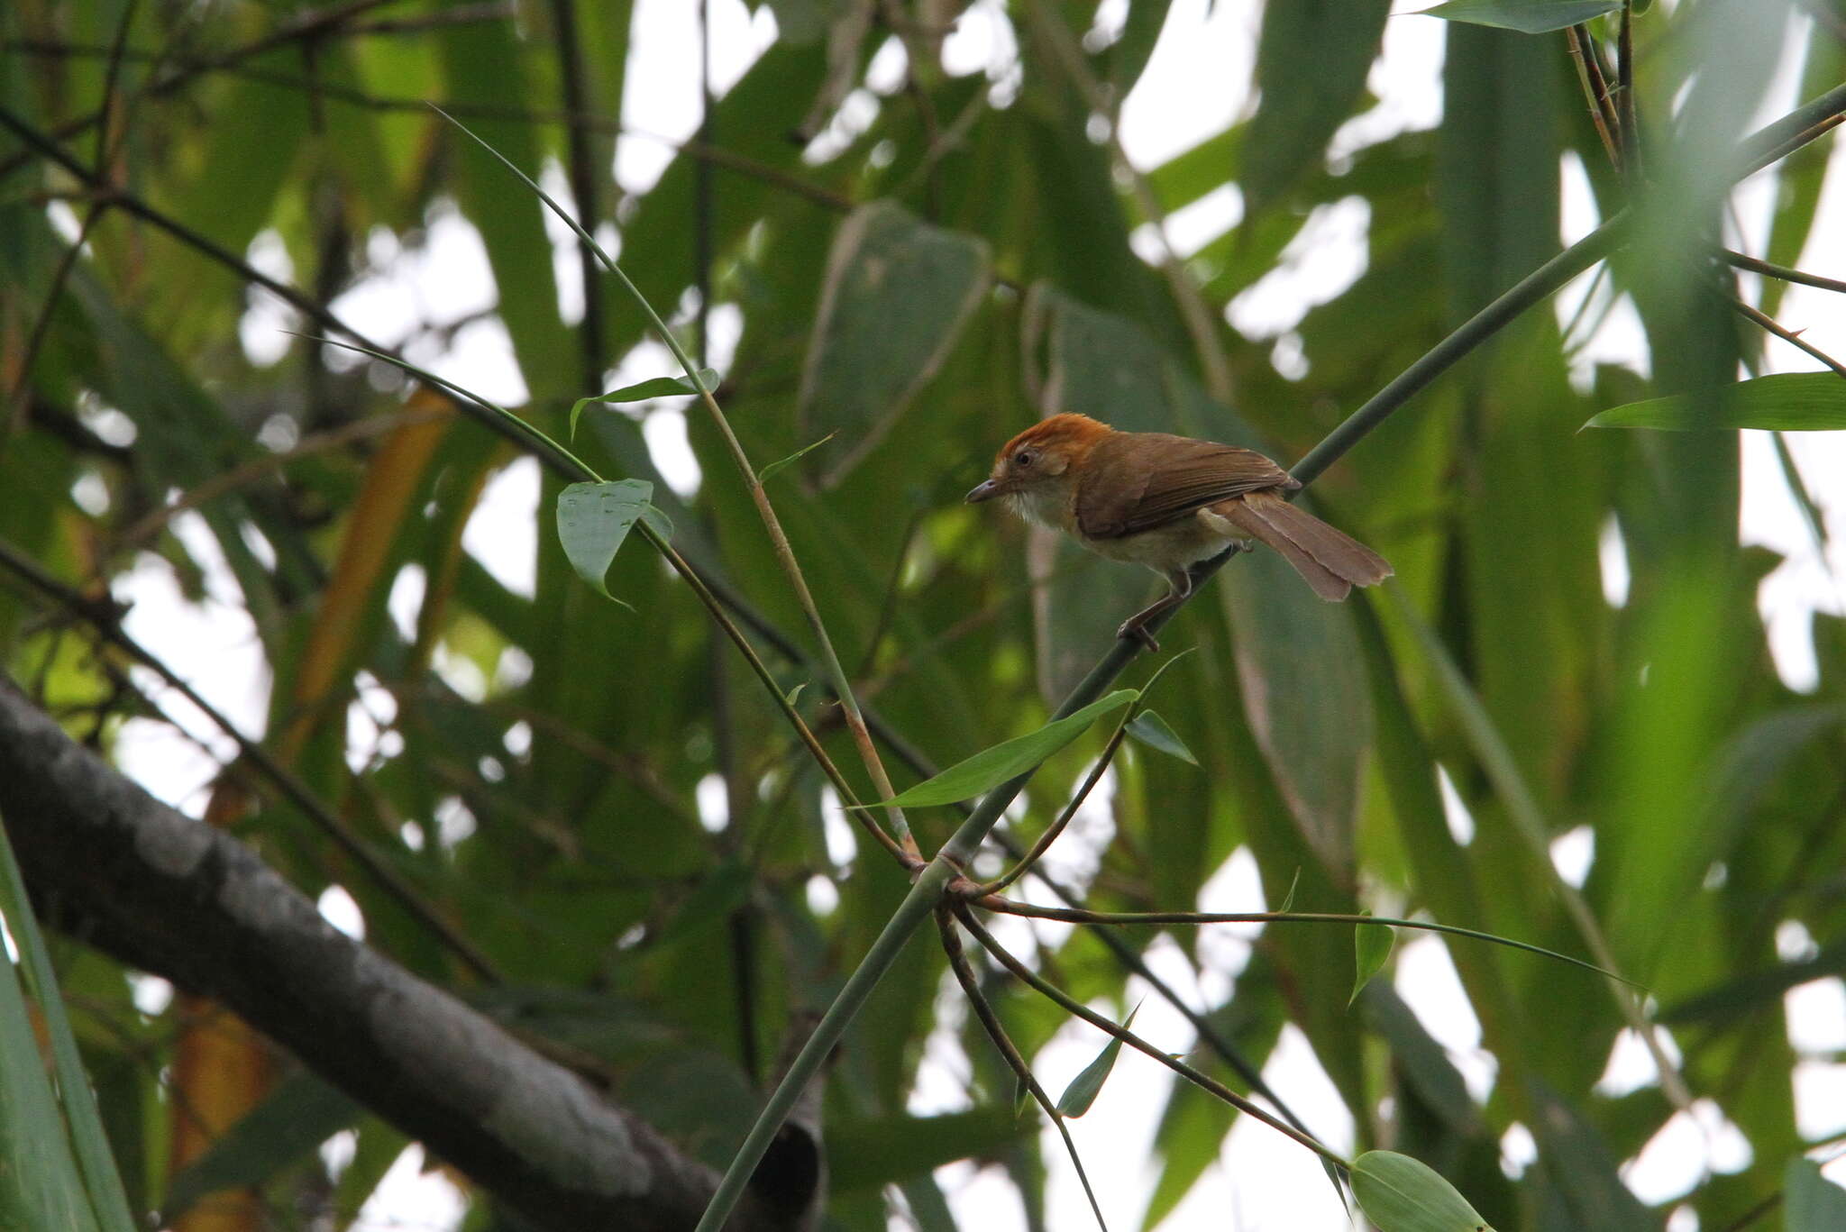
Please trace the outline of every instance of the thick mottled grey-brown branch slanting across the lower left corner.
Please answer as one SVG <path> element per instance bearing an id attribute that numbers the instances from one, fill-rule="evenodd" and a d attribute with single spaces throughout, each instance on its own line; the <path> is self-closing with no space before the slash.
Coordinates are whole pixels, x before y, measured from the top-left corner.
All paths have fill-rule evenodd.
<path id="1" fill-rule="evenodd" d="M 681 1232 L 698 1221 L 713 1169 L 336 931 L 249 848 L 157 802 L 7 680 L 0 816 L 46 922 L 223 1001 L 537 1226 Z M 761 1180 L 773 1197 L 751 1195 L 729 1226 L 799 1226 L 812 1193 L 792 1202 L 785 1178 Z"/>

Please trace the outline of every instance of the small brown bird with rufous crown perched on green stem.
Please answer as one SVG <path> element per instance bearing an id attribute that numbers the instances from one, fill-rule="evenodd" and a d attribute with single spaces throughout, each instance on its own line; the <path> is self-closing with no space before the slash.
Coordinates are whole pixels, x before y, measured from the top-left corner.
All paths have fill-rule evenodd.
<path id="1" fill-rule="evenodd" d="M 1098 556 L 1146 565 L 1172 587 L 1117 637 L 1157 648 L 1148 621 L 1193 593 L 1193 565 L 1237 541 L 1283 554 L 1314 593 L 1338 602 L 1390 576 L 1383 556 L 1281 493 L 1301 484 L 1250 449 L 1165 432 L 1117 432 L 1089 416 L 1052 416 L 1006 441 L 967 502 L 1006 497 L 1021 517 L 1056 526 Z"/>

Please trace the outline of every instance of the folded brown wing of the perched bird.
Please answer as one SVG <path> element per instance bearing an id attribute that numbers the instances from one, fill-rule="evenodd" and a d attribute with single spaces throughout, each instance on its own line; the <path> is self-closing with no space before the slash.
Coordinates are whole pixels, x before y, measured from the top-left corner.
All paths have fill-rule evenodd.
<path id="1" fill-rule="evenodd" d="M 1165 432 L 1115 432 L 1089 454 L 1076 491 L 1076 525 L 1093 539 L 1119 539 L 1268 488 L 1298 484 L 1250 449 Z"/>

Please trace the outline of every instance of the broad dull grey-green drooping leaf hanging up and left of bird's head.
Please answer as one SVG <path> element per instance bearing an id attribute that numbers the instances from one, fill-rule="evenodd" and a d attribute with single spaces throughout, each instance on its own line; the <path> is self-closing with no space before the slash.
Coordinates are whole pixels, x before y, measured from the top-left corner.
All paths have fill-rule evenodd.
<path id="1" fill-rule="evenodd" d="M 988 244 L 875 201 L 842 223 L 801 371 L 807 430 L 844 432 L 833 486 L 884 434 L 949 355 L 988 286 Z"/>

